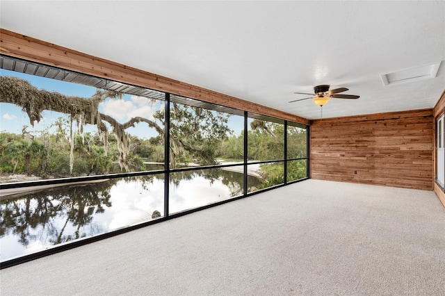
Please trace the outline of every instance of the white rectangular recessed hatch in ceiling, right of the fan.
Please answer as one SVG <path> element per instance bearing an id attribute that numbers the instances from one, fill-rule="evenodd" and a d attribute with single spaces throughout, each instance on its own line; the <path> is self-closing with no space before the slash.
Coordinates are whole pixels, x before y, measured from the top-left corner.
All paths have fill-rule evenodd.
<path id="1" fill-rule="evenodd" d="M 382 78 L 383 85 L 385 86 L 435 78 L 435 76 L 437 76 L 437 71 L 439 71 L 441 63 L 442 62 L 422 67 L 405 69 L 389 74 L 382 74 L 380 75 L 380 77 Z"/>

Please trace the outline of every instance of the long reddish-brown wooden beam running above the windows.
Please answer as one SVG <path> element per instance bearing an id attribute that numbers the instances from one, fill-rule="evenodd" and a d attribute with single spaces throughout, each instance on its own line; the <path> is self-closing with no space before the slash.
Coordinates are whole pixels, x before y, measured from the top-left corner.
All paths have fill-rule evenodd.
<path id="1" fill-rule="evenodd" d="M 6 56 L 31 60 L 44 65 L 51 65 L 122 83 L 138 85 L 152 90 L 170 92 L 172 94 L 250 111 L 260 115 L 268 115 L 282 120 L 309 124 L 309 120 L 304 117 L 261 106 L 250 101 L 169 79 L 140 69 L 127 67 L 126 65 L 104 60 L 103 58 L 83 54 L 79 51 L 20 35 L 3 28 L 0 28 L 0 42 L 0 52 Z"/>

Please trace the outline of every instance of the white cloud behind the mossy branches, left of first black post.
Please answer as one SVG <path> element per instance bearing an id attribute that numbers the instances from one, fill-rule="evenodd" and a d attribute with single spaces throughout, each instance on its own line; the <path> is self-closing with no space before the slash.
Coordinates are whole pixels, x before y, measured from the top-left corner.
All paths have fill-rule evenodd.
<path id="1" fill-rule="evenodd" d="M 129 120 L 131 117 L 144 117 L 153 119 L 154 110 L 149 99 L 145 97 L 131 96 L 129 101 L 123 99 L 111 99 L 102 103 L 104 113 L 116 120 Z"/>

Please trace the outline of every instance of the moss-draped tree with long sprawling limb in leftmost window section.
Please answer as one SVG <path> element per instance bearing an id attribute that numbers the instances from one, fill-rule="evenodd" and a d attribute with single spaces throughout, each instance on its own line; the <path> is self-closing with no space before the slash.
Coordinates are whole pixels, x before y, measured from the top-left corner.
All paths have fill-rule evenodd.
<path id="1" fill-rule="evenodd" d="M 73 174 L 74 168 L 74 134 L 73 122 L 77 123 L 76 134 L 83 136 L 83 127 L 85 124 L 94 124 L 97 126 L 97 135 L 104 146 L 104 154 L 108 154 L 108 129 L 111 127 L 112 134 L 116 140 L 119 151 L 118 163 L 121 170 L 131 171 L 132 167 L 140 166 L 140 161 L 131 163 L 131 160 L 137 159 L 129 156 L 130 136 L 125 131 L 137 122 L 147 122 L 153 124 L 150 120 L 142 117 L 133 117 L 128 122 L 120 124 L 113 117 L 99 112 L 99 104 L 107 98 L 122 99 L 122 93 L 111 90 L 96 90 L 96 93 L 90 98 L 66 96 L 58 92 L 49 92 L 47 90 L 38 90 L 31 85 L 29 81 L 11 76 L 0 76 L 0 102 L 15 104 L 22 108 L 28 114 L 31 125 L 34 122 L 40 122 L 43 110 L 51 110 L 69 115 L 69 129 L 63 126 L 63 121 L 58 122 L 58 130 L 63 132 L 63 138 L 68 138 L 70 144 L 70 174 Z M 17 161 L 16 161 L 17 162 Z M 103 161 L 101 165 L 103 165 Z"/>

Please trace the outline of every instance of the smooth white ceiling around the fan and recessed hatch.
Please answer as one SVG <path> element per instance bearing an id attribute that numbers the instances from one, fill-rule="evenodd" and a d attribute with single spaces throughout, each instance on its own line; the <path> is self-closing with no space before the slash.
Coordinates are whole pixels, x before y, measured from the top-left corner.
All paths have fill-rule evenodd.
<path id="1" fill-rule="evenodd" d="M 4 1 L 0 25 L 92 56 L 316 119 L 293 92 L 346 87 L 323 117 L 432 108 L 435 79 L 380 74 L 445 60 L 444 1 Z"/>

